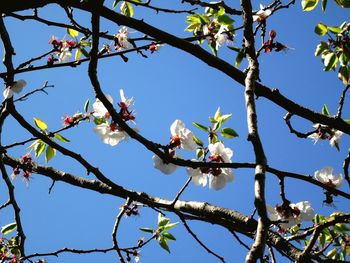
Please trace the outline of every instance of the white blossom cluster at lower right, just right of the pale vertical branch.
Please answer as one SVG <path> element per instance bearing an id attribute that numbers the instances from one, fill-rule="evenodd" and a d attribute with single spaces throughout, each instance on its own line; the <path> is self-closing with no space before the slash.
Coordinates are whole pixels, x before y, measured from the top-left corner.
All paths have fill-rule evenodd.
<path id="1" fill-rule="evenodd" d="M 311 221 L 315 216 L 315 211 L 309 201 L 296 204 L 284 202 L 282 205 L 276 205 L 275 208 L 269 205 L 266 208 L 272 221 L 286 221 L 278 224 L 281 233 L 285 233 L 288 228 L 301 224 L 303 221 Z"/>

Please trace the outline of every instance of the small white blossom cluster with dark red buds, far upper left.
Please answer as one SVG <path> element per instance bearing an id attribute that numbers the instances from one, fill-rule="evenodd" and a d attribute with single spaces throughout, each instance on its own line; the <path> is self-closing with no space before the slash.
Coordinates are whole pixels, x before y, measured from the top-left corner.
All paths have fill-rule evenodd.
<path id="1" fill-rule="evenodd" d="M 47 64 L 52 65 L 55 61 L 59 63 L 67 62 L 72 57 L 72 49 L 77 47 L 77 43 L 73 40 L 58 40 L 52 36 L 49 44 L 56 51 L 55 56 L 51 55 L 47 59 Z"/>

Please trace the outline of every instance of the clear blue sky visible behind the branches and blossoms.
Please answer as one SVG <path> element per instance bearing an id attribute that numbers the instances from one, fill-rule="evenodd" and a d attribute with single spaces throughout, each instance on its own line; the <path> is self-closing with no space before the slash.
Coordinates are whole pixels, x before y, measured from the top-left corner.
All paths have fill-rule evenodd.
<path id="1" fill-rule="evenodd" d="M 109 3 L 110 2 L 110 3 Z M 161 1 L 159 1 L 161 4 Z M 156 4 L 156 2 L 154 2 Z M 254 8 L 259 8 L 254 3 Z M 106 1 L 111 6 L 112 1 Z M 176 5 L 175 5 L 176 6 Z M 237 6 L 238 7 L 238 6 Z M 39 10 L 39 15 L 62 20 L 63 13 L 56 8 Z M 145 18 L 147 23 L 181 37 L 190 36 L 184 32 L 185 15 L 155 15 L 154 12 L 137 9 L 135 17 Z M 89 17 L 82 15 L 80 21 L 89 26 Z M 240 18 L 235 18 L 235 26 L 240 26 Z M 328 10 L 323 14 L 318 7 L 315 11 L 302 12 L 300 3 L 288 10 L 282 10 L 268 20 L 268 30 L 277 32 L 277 40 L 291 47 L 287 52 L 262 54 L 259 58 L 260 77 L 262 83 L 269 87 L 279 88 L 288 98 L 320 111 L 326 103 L 331 114 L 335 114 L 343 84 L 334 72 L 324 73 L 320 58 L 314 57 L 315 47 L 320 37 L 313 33 L 318 22 L 328 25 L 340 25 L 348 19 L 348 10 L 341 10 L 333 2 L 328 4 Z M 64 29 L 40 25 L 35 22 L 20 22 L 13 18 L 5 19 L 12 43 L 16 50 L 15 65 L 31 57 L 48 51 L 51 47 L 48 40 L 52 35 L 63 38 Z M 103 30 L 116 33 L 116 25 L 103 21 Z M 130 29 L 131 37 L 142 36 Z M 242 32 L 237 33 L 235 46 L 241 46 Z M 259 42 L 257 42 L 259 46 Z M 206 45 L 204 45 L 205 47 Z M 206 48 L 206 47 L 205 47 Z M 247 125 L 245 115 L 244 88 L 226 75 L 208 67 L 196 58 L 165 45 L 159 52 L 147 54 L 147 59 L 137 54 L 128 56 L 128 63 L 119 57 L 101 60 L 98 73 L 101 86 L 106 94 L 111 94 L 116 100 L 119 89 L 123 88 L 127 97 L 134 97 L 136 123 L 140 133 L 152 141 L 166 144 L 170 137 L 169 127 L 175 119 L 181 119 L 197 137 L 206 140 L 205 134 L 196 129 L 192 121 L 209 124 L 208 116 L 213 116 L 217 107 L 223 113 L 232 113 L 228 125 L 240 135 L 236 139 L 226 139 L 225 145 L 234 151 L 234 162 L 252 162 L 254 153 L 251 144 L 246 140 Z M 235 53 L 223 47 L 219 56 L 234 63 Z M 45 62 L 43 62 L 45 63 Z M 243 69 L 243 63 L 240 68 Z M 18 74 L 16 79 L 25 79 L 26 90 L 41 87 L 48 80 L 55 85 L 48 89 L 49 95 L 37 93 L 25 102 L 17 104 L 18 111 L 33 124 L 33 117 L 41 118 L 49 125 L 49 129 L 62 127 L 64 115 L 83 111 L 87 99 L 94 100 L 94 93 L 87 76 L 88 64 L 77 68 L 55 68 L 44 71 L 34 71 Z M 4 71 L 1 65 L 1 71 Z M 290 134 L 283 116 L 286 111 L 270 103 L 264 98 L 257 100 L 259 132 L 270 166 L 313 175 L 315 170 L 332 166 L 336 173 L 342 172 L 342 162 L 349 148 L 348 136 L 341 140 L 341 150 L 329 146 L 327 141 L 316 145 L 311 140 L 298 139 Z M 350 108 L 345 106 L 344 118 L 350 119 Z M 308 121 L 293 118 L 295 127 L 308 131 L 312 124 Z M 147 192 L 154 196 L 172 199 L 188 176 L 184 168 L 166 176 L 153 168 L 152 154 L 139 143 L 129 140 L 116 147 L 110 147 L 100 141 L 94 134 L 92 123 L 82 123 L 63 135 L 71 140 L 67 145 L 71 150 L 82 154 L 86 160 L 98 166 L 102 172 L 117 184 L 136 191 Z M 3 143 L 9 144 L 31 137 L 11 118 L 6 121 L 3 133 Z M 9 153 L 15 157 L 25 154 L 25 147 L 12 149 Z M 194 158 L 194 153 L 182 151 L 184 158 Z M 36 160 L 44 165 L 44 159 Z M 50 161 L 50 166 L 76 175 L 86 177 L 86 171 L 76 162 L 61 154 Z M 10 171 L 10 169 L 9 169 Z M 254 170 L 235 170 L 235 180 L 226 185 L 223 190 L 214 191 L 207 187 L 193 184 L 181 196 L 184 200 L 206 201 L 223 207 L 231 208 L 249 215 L 253 207 Z M 343 173 L 343 172 L 342 172 Z M 111 231 L 115 216 L 123 200 L 76 189 L 57 182 L 52 193 L 48 194 L 51 181 L 40 175 L 33 175 L 27 186 L 18 178 L 14 184 L 16 195 L 22 208 L 24 230 L 27 235 L 27 253 L 47 252 L 63 247 L 79 249 L 106 248 L 111 246 Z M 92 176 L 87 177 L 92 178 Z M 328 215 L 334 208 L 324 206 L 322 189 L 308 186 L 301 181 L 287 180 L 286 195 L 296 203 L 309 200 L 315 211 Z M 4 184 L 1 184 L 4 189 Z M 276 177 L 267 174 L 266 199 L 271 205 L 281 203 L 278 181 Z M 341 188 L 348 191 L 344 184 Z M 1 203 L 7 200 L 2 190 Z M 349 212 L 349 203 L 335 198 L 337 210 Z M 0 224 L 12 222 L 10 209 L 1 211 Z M 171 214 L 172 221 L 178 221 Z M 122 221 L 120 228 L 120 244 L 122 247 L 134 245 L 138 238 L 144 236 L 139 227 L 155 227 L 157 214 L 153 210 L 143 208 L 141 215 Z M 246 251 L 234 238 L 220 227 L 190 222 L 190 226 L 216 253 L 227 258 L 228 262 L 242 262 Z M 160 249 L 155 242 L 142 249 L 141 262 L 216 262 L 215 258 L 190 237 L 183 226 L 178 225 L 172 233 L 177 241 L 170 244 L 171 255 Z M 243 238 L 246 240 L 245 238 Z M 246 240 L 250 244 L 250 240 Z M 53 262 L 112 262 L 115 253 L 89 254 L 75 256 L 61 254 L 59 258 L 50 257 Z"/>

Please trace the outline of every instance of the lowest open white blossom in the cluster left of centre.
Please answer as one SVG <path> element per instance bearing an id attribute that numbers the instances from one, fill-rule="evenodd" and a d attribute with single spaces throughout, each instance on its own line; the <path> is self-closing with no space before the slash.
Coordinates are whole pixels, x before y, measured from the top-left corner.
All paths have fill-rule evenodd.
<path id="1" fill-rule="evenodd" d="M 129 137 L 125 131 L 121 130 L 117 125 L 113 124 L 109 125 L 102 123 L 96 125 L 94 131 L 100 135 L 102 141 L 105 144 L 109 144 L 111 146 L 115 146 Z"/>

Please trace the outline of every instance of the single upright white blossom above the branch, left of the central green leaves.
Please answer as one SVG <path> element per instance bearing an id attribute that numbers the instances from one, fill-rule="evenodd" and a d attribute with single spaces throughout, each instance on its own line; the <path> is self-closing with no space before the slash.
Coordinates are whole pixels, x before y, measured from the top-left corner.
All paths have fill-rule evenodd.
<path id="1" fill-rule="evenodd" d="M 180 143 L 180 147 L 185 150 L 195 150 L 197 145 L 193 140 L 192 132 L 185 128 L 181 120 L 175 120 L 170 126 L 173 143 Z"/>

